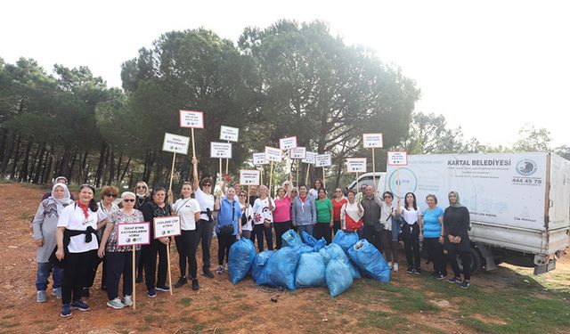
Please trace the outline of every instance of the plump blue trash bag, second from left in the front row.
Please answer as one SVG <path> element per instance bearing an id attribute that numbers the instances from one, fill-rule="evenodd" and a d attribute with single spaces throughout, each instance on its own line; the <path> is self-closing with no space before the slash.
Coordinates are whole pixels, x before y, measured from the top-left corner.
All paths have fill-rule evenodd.
<path id="1" fill-rule="evenodd" d="M 303 246 L 309 248 L 306 245 Z M 282 287 L 290 290 L 295 289 L 295 271 L 297 270 L 299 257 L 301 257 L 303 252 L 303 247 L 283 247 L 277 250 L 267 260 L 256 284 Z"/>

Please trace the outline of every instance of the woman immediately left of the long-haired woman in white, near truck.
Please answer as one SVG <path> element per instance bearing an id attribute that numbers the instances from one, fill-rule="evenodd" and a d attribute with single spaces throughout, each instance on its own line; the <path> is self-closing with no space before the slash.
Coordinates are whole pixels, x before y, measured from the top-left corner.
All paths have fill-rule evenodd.
<path id="1" fill-rule="evenodd" d="M 380 232 L 380 240 L 384 255 L 388 261 L 388 265 L 398 271 L 398 236 L 400 234 L 400 225 L 395 219 L 395 211 L 397 210 L 394 203 L 394 194 L 385 191 L 382 195 L 382 208 L 380 211 L 380 222 L 384 224 L 384 228 Z"/>

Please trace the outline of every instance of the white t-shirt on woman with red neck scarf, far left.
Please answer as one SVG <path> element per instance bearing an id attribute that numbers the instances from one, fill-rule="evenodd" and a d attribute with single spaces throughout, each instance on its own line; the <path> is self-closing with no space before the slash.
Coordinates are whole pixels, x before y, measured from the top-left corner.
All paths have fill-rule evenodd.
<path id="1" fill-rule="evenodd" d="M 83 210 L 77 204 L 69 204 L 69 206 L 61 210 L 57 226 L 76 231 L 85 231 L 88 226 L 91 226 L 94 230 L 97 230 L 97 223 L 107 219 L 107 215 L 102 210 L 93 212 L 91 209 L 88 209 L 87 212 L 89 217 L 85 219 Z M 89 243 L 85 242 L 85 234 L 79 234 L 69 239 L 69 253 L 83 253 L 98 248 L 99 244 L 95 235 L 92 236 Z"/>

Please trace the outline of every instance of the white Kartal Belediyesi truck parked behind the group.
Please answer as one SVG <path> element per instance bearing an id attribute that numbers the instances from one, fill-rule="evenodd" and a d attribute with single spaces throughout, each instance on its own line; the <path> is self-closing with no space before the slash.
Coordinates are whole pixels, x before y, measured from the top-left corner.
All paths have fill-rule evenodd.
<path id="1" fill-rule="evenodd" d="M 458 191 L 471 216 L 474 272 L 507 262 L 546 273 L 570 245 L 570 161 L 554 153 L 409 155 L 407 166 L 377 175 L 379 192 L 414 192 L 422 209 L 428 194 L 446 208 Z"/>

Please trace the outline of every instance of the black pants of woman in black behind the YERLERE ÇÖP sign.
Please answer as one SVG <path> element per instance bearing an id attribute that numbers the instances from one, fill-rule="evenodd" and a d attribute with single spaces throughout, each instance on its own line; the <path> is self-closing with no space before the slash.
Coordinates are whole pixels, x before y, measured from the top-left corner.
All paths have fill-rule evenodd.
<path id="1" fill-rule="evenodd" d="M 144 281 L 147 289 L 154 289 L 157 285 L 165 286 L 167 283 L 167 245 L 159 240 L 152 240 L 150 245 L 142 246 L 144 259 Z M 157 275 L 157 254 L 159 255 L 159 274 Z"/>

